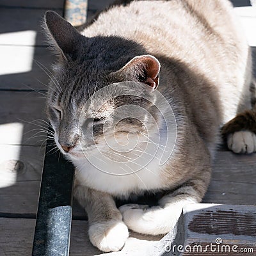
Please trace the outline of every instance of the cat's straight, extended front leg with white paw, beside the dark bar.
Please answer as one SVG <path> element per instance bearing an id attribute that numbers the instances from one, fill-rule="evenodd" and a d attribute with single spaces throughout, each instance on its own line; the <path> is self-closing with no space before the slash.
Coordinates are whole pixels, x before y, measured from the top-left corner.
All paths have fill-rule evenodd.
<path id="1" fill-rule="evenodd" d="M 129 233 L 112 196 L 82 186 L 77 180 L 74 195 L 88 214 L 88 233 L 92 244 L 103 252 L 120 250 L 124 246 Z"/>

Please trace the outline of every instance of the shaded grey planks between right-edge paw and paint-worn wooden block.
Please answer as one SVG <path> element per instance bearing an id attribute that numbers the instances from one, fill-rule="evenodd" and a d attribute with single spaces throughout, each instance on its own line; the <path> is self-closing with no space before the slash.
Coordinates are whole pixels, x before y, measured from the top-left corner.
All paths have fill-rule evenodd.
<path id="1" fill-rule="evenodd" d="M 219 151 L 204 203 L 255 204 L 256 154 Z"/>

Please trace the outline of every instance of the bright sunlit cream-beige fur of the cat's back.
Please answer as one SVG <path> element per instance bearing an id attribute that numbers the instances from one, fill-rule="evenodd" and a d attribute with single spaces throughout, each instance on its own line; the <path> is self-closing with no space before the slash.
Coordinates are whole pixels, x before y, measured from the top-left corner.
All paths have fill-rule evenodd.
<path id="1" fill-rule="evenodd" d="M 119 36 L 184 63 L 216 87 L 223 123 L 236 115 L 237 102 L 250 98 L 250 52 L 228 0 L 131 1 L 101 13 L 83 35 Z"/>

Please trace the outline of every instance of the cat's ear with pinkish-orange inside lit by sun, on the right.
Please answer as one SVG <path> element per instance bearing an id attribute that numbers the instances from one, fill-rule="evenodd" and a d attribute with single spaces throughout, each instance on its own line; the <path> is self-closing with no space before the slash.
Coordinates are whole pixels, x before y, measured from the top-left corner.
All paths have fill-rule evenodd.
<path id="1" fill-rule="evenodd" d="M 121 70 L 125 78 L 137 79 L 154 90 L 159 84 L 160 67 L 159 61 L 154 56 L 141 55 L 133 58 Z"/>

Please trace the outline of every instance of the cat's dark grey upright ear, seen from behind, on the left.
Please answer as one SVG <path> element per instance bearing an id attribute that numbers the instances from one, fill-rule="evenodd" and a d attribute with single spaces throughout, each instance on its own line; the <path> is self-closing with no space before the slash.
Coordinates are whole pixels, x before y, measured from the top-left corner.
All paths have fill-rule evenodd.
<path id="1" fill-rule="evenodd" d="M 44 20 L 50 44 L 53 44 L 65 58 L 76 58 L 82 37 L 76 28 L 56 12 L 47 11 Z"/>

